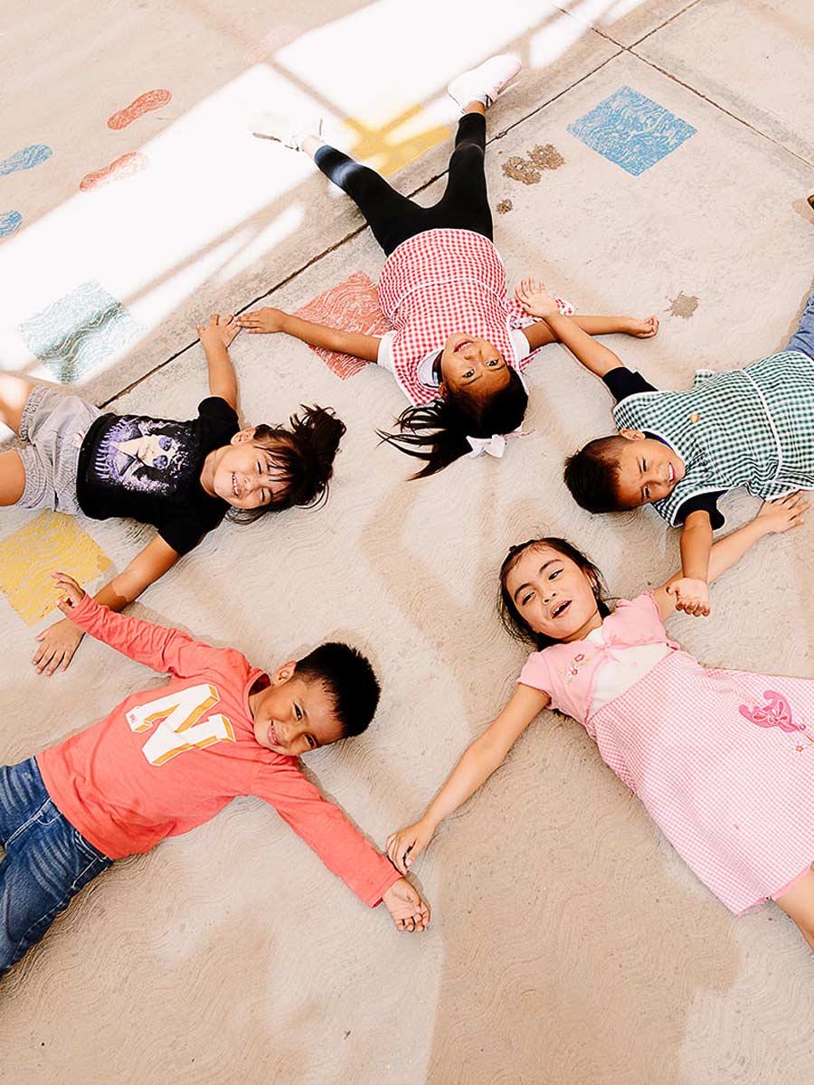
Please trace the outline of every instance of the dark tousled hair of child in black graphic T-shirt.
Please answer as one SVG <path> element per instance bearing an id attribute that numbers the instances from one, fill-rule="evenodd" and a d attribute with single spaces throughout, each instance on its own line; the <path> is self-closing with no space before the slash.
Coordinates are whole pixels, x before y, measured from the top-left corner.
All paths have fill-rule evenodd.
<path id="1" fill-rule="evenodd" d="M 289 419 L 289 430 L 263 423 L 255 426 L 253 439 L 268 448 L 284 489 L 258 509 L 231 509 L 230 520 L 251 524 L 266 512 L 280 512 L 295 505 L 313 508 L 328 499 L 328 482 L 345 423 L 330 407 L 301 405 L 300 412 Z"/>

